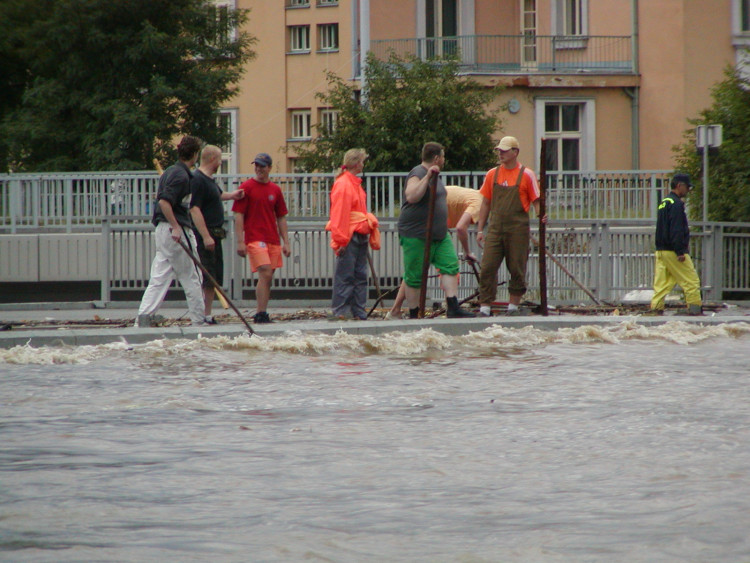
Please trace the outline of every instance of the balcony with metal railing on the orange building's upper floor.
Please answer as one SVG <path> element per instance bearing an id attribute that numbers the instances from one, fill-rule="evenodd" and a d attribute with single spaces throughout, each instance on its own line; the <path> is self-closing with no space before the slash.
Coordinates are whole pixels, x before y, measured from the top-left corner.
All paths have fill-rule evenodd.
<path id="1" fill-rule="evenodd" d="M 634 74 L 632 37 L 561 35 L 463 35 L 374 40 L 381 60 L 390 53 L 431 59 L 457 55 L 461 69 L 478 74 Z"/>

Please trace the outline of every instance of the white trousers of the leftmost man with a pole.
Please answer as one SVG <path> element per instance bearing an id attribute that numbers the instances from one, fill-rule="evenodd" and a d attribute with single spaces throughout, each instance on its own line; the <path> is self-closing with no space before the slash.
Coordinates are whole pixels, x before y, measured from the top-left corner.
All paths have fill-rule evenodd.
<path id="1" fill-rule="evenodd" d="M 197 257 L 195 235 L 192 229 L 182 229 L 183 241 L 188 238 L 188 246 Z M 201 282 L 203 276 L 198 266 L 193 263 L 185 250 L 172 240 L 169 233 L 169 223 L 162 221 L 156 226 L 156 256 L 151 263 L 151 277 L 148 287 L 143 293 L 138 316 L 153 315 L 161 306 L 172 280 L 182 285 L 187 297 L 190 320 L 193 324 L 205 321 L 203 290 Z"/>

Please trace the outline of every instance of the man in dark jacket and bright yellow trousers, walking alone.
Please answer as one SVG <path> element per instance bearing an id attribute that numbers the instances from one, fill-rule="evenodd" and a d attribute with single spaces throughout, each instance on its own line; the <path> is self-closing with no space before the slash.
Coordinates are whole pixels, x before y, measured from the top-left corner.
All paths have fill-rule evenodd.
<path id="1" fill-rule="evenodd" d="M 674 175 L 670 185 L 672 191 L 661 200 L 656 214 L 656 264 L 651 310 L 654 314 L 662 314 L 667 294 L 679 285 L 685 293 L 688 315 L 702 315 L 701 282 L 688 254 L 690 228 L 682 202 L 693 184 L 690 176 L 679 173 Z"/>

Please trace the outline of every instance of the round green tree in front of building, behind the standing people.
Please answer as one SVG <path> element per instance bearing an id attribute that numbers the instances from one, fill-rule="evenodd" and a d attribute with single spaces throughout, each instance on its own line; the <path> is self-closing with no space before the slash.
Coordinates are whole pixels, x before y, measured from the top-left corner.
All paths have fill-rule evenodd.
<path id="1" fill-rule="evenodd" d="M 455 59 L 422 61 L 391 54 L 387 61 L 368 55 L 361 103 L 355 87 L 328 74 L 328 90 L 317 94 L 339 112 L 333 131 L 298 147 L 298 163 L 308 170 L 332 170 L 347 149 L 362 147 L 368 168 L 383 172 L 411 169 L 427 141 L 446 147 L 449 170 L 484 170 L 494 164 L 492 135 L 499 126 L 487 104 L 497 91 L 460 77 Z"/>

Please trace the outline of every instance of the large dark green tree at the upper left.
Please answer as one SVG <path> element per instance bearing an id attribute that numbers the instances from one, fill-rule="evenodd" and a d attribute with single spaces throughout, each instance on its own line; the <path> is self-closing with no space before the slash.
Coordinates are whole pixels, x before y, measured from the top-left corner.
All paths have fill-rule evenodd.
<path id="1" fill-rule="evenodd" d="M 254 55 L 246 10 L 210 0 L 0 6 L 0 59 L 11 55 L 14 71 L 0 82 L 12 89 L 0 99 L 3 168 L 149 169 L 172 160 L 182 134 L 229 140 L 217 111 Z"/>

